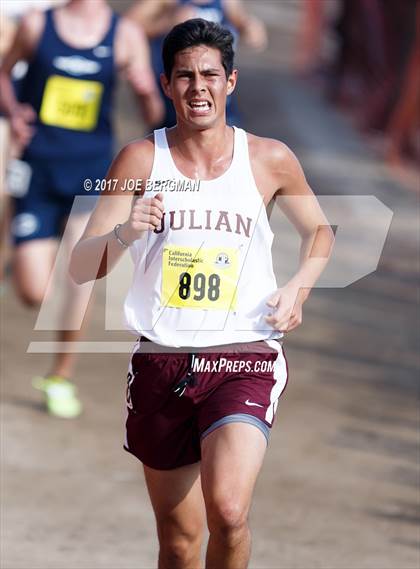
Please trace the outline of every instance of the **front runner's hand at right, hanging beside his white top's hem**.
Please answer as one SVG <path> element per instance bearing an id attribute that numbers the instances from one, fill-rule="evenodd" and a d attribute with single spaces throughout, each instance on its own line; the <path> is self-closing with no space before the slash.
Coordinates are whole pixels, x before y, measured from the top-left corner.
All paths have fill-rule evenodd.
<path id="1" fill-rule="evenodd" d="M 305 295 L 296 287 L 279 288 L 267 302 L 272 312 L 265 317 L 275 330 L 290 332 L 302 324 L 302 304 Z"/>

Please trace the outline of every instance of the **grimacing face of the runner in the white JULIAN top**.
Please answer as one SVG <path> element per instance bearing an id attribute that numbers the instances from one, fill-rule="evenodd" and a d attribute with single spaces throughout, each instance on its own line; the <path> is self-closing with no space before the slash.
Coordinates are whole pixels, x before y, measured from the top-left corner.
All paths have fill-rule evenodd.
<path id="1" fill-rule="evenodd" d="M 236 69 L 226 78 L 220 51 L 206 45 L 179 51 L 170 80 L 161 75 L 162 87 L 173 101 L 178 122 L 199 129 L 224 122 L 226 98 L 233 92 L 236 79 Z"/>

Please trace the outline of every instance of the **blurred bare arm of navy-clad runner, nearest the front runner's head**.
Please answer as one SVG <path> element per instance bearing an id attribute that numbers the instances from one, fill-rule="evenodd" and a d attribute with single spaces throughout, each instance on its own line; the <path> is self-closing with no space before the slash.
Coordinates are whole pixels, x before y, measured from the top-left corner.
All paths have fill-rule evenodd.
<path id="1" fill-rule="evenodd" d="M 117 65 L 138 97 L 143 119 L 148 126 L 159 124 L 164 106 L 151 68 L 147 39 L 141 28 L 127 18 L 119 23 L 115 51 Z"/>

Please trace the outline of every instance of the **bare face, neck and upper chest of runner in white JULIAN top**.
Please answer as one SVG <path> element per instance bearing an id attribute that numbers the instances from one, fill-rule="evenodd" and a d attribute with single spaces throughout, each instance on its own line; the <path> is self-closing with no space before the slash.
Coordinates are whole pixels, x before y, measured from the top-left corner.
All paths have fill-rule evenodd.
<path id="1" fill-rule="evenodd" d="M 185 176 L 214 179 L 229 167 L 233 129 L 226 125 L 226 98 L 236 80 L 236 70 L 226 76 L 220 51 L 204 45 L 178 52 L 170 79 L 161 76 L 177 114 L 177 125 L 167 136 Z"/>

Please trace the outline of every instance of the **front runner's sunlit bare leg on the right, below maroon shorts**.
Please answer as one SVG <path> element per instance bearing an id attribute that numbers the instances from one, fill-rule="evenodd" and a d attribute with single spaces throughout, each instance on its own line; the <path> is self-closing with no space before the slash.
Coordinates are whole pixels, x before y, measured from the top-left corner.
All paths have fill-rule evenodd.
<path id="1" fill-rule="evenodd" d="M 210 530 L 206 569 L 248 567 L 248 513 L 266 446 L 261 431 L 246 423 L 224 425 L 202 441 L 201 480 Z"/>

